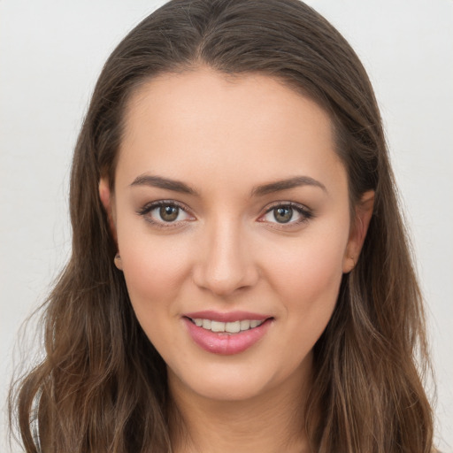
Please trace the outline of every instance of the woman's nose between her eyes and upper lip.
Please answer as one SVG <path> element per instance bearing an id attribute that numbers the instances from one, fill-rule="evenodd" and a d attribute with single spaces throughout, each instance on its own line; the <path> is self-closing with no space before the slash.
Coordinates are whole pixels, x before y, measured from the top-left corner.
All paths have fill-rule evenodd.
<path id="1" fill-rule="evenodd" d="M 257 283 L 259 270 L 241 226 L 219 221 L 204 231 L 202 242 L 193 273 L 199 288 L 230 296 Z"/>

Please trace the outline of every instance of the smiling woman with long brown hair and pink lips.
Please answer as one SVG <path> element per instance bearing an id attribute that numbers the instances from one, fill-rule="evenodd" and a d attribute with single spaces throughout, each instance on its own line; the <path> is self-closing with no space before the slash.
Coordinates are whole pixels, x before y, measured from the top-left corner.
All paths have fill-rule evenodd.
<path id="1" fill-rule="evenodd" d="M 432 450 L 380 113 L 308 6 L 143 20 L 96 85 L 71 219 L 17 388 L 27 451 Z"/>

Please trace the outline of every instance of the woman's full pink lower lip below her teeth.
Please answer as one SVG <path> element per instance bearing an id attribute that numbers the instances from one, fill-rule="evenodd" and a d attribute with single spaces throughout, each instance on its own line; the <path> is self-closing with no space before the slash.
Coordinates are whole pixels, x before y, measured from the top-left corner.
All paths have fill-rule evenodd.
<path id="1" fill-rule="evenodd" d="M 198 327 L 187 318 L 183 318 L 183 320 L 188 327 L 188 334 L 200 348 L 222 356 L 239 354 L 251 348 L 263 338 L 272 323 L 272 319 L 266 319 L 260 326 L 237 334 L 226 334 L 224 332 L 211 332 L 211 330 Z"/>

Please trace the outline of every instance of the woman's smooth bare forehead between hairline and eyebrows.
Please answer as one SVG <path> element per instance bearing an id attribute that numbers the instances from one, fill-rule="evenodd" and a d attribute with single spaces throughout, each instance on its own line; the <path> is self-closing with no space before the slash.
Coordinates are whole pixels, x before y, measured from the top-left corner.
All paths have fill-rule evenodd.
<path id="1" fill-rule="evenodd" d="M 151 172 L 225 182 L 231 172 L 269 180 L 342 171 L 332 122 L 318 104 L 266 75 L 208 68 L 165 73 L 135 91 L 118 166 L 130 178 Z"/>

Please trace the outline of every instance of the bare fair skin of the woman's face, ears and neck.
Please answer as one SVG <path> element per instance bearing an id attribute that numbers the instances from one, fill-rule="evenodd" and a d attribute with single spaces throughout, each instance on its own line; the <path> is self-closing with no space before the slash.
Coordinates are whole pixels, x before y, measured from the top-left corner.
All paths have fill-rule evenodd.
<path id="1" fill-rule="evenodd" d="M 193 192 L 154 187 L 146 176 Z M 257 193 L 299 176 L 311 183 Z M 168 367 L 184 426 L 173 429 L 174 451 L 304 451 L 312 348 L 372 215 L 367 193 L 351 223 L 326 112 L 265 75 L 163 74 L 128 104 L 115 178 L 114 194 L 100 181 L 100 196 L 118 240 L 115 264 Z M 176 221 L 158 208 L 143 213 L 161 200 L 184 208 Z M 303 213 L 293 208 L 279 223 L 275 203 Z M 222 356 L 188 335 L 183 315 L 202 310 L 273 320 L 250 349 Z"/>

